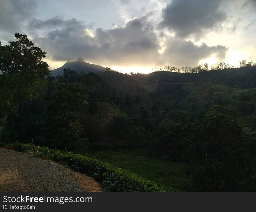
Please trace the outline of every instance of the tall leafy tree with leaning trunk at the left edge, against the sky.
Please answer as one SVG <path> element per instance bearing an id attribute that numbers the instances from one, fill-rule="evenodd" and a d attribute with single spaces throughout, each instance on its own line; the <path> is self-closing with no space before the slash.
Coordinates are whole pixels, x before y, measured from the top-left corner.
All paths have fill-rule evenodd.
<path id="1" fill-rule="evenodd" d="M 8 116 L 38 95 L 38 87 L 47 75 L 49 65 L 46 52 L 29 41 L 26 35 L 15 33 L 16 41 L 0 46 L 0 102 L 4 114 L 0 126 L 0 139 Z"/>

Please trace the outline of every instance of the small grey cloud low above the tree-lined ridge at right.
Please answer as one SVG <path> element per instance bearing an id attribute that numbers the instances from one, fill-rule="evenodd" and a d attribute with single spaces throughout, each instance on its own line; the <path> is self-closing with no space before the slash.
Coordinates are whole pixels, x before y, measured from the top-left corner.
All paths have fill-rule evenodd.
<path id="1" fill-rule="evenodd" d="M 171 38 L 167 43 L 166 50 L 162 55 L 163 60 L 168 62 L 168 64 L 178 67 L 195 67 L 200 60 L 211 55 L 215 55 L 217 59 L 223 60 L 228 50 L 228 48 L 221 45 L 207 46 L 205 43 L 202 43 L 200 46 L 197 46 L 191 41 L 179 38 Z"/>

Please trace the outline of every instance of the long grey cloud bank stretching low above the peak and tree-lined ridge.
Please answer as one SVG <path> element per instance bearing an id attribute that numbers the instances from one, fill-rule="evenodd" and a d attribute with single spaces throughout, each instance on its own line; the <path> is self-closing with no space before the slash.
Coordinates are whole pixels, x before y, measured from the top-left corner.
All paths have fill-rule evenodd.
<path id="1" fill-rule="evenodd" d="M 158 37 L 154 27 L 146 17 L 134 18 L 123 27 L 94 32 L 86 29 L 86 24 L 77 20 L 59 18 L 46 21 L 34 20 L 38 28 L 62 26 L 50 30 L 45 36 L 35 37 L 34 42 L 48 52 L 51 60 L 68 61 L 82 57 L 85 61 L 114 66 L 161 66 L 173 64 L 181 67 L 196 66 L 199 60 L 215 55 L 223 60 L 225 46 L 200 46 L 178 37 Z M 34 26 L 34 27 L 36 27 Z M 159 53 L 159 38 L 166 38 L 165 50 Z"/>

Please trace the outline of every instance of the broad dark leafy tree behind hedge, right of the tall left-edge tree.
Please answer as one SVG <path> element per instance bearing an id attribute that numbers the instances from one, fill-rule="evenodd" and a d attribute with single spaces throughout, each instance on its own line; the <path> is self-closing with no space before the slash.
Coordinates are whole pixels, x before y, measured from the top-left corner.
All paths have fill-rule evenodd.
<path id="1" fill-rule="evenodd" d="M 51 148 L 74 150 L 74 143 L 84 138 L 79 118 L 86 112 L 87 99 L 80 84 L 57 83 L 44 113 L 45 137 Z"/>

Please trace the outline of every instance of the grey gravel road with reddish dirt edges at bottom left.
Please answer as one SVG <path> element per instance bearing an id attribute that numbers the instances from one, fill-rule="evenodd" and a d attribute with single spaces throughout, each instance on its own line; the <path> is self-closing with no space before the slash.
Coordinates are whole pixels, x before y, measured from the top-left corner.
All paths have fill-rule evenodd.
<path id="1" fill-rule="evenodd" d="M 55 162 L 0 148 L 0 191 L 103 191 L 92 178 Z"/>

